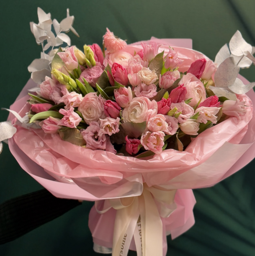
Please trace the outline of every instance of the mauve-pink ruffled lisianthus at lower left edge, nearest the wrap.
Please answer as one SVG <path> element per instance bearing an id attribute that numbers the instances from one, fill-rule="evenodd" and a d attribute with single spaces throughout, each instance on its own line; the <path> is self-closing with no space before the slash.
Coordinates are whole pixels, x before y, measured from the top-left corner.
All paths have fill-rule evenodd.
<path id="1" fill-rule="evenodd" d="M 86 141 L 86 148 L 96 150 L 96 149 L 106 149 L 106 135 L 102 134 L 99 136 L 100 131 L 99 123 L 92 121 L 90 126 L 85 130 L 80 130 L 83 139 Z"/>

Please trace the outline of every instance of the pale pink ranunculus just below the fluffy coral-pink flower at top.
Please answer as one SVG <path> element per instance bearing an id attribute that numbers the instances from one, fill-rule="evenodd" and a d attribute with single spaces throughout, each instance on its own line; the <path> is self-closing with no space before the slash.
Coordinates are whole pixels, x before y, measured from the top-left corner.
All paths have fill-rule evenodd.
<path id="1" fill-rule="evenodd" d="M 124 51 L 119 51 L 116 53 L 108 53 L 105 56 L 104 59 L 104 66 L 106 67 L 107 64 L 109 66 L 113 66 L 113 63 L 118 63 L 121 64 L 125 69 L 128 68 L 128 61 L 131 59 L 133 56 L 130 53 L 124 52 Z"/>

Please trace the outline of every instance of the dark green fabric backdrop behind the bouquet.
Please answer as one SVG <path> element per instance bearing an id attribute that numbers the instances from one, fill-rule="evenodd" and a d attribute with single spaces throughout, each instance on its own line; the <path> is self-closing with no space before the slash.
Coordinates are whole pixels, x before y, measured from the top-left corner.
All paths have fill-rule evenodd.
<path id="1" fill-rule="evenodd" d="M 193 49 L 211 59 L 228 43 L 236 30 L 255 46 L 254 0 L 10 0 L 2 1 L 1 93 L 0 107 L 8 108 L 29 79 L 28 65 L 40 56 L 29 21 L 38 22 L 37 7 L 62 20 L 66 8 L 75 16 L 74 28 L 80 38 L 70 33 L 72 44 L 101 45 L 106 27 L 127 43 L 157 38 L 191 38 Z M 255 81 L 255 68 L 241 71 Z M 0 112 L 0 121 L 8 113 Z M 194 191 L 196 224 L 180 238 L 168 237 L 168 254 L 186 255 L 255 255 L 254 164 L 213 188 Z M 11 155 L 4 145 L 0 155 L 0 203 L 18 195 L 42 189 Z M 92 202 L 0 246 L 1 256 L 99 255 L 93 252 L 88 229 Z M 129 255 L 136 255 L 130 252 Z"/>

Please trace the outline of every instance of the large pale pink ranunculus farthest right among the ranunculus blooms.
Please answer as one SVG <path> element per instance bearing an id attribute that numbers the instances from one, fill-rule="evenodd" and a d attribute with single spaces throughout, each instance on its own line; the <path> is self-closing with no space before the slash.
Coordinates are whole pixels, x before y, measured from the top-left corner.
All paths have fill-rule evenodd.
<path id="1" fill-rule="evenodd" d="M 195 107 L 200 98 L 202 98 L 201 102 L 206 100 L 206 90 L 204 85 L 199 79 L 195 77 L 195 75 L 190 73 L 183 75 L 179 85 L 181 84 L 183 84 L 187 89 L 185 100 L 192 98 L 191 102 L 188 103 L 191 107 Z"/>

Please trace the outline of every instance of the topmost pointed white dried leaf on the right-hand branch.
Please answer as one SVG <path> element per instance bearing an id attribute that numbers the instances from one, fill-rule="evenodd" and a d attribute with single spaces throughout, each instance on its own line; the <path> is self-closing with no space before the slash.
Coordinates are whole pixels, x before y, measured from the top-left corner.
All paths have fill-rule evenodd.
<path id="1" fill-rule="evenodd" d="M 234 36 L 232 36 L 229 42 L 229 49 L 235 56 L 242 56 L 247 51 L 250 53 L 252 52 L 252 46 L 244 40 L 239 30 L 237 30 Z"/>

